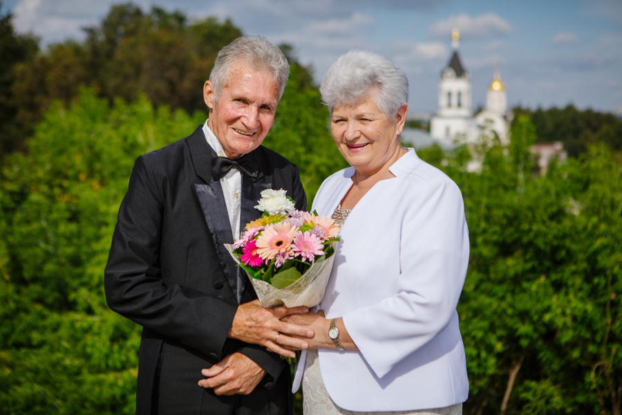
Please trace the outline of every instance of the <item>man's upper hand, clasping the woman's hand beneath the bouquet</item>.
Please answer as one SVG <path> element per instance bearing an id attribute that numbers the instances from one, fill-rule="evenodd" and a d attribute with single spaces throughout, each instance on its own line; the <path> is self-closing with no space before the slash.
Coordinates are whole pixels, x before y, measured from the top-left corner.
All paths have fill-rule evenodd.
<path id="1" fill-rule="evenodd" d="M 294 358 L 296 353 L 292 350 L 308 349 L 309 344 L 304 339 L 312 338 L 314 331 L 308 327 L 282 322 L 279 319 L 292 314 L 308 313 L 308 311 L 307 307 L 264 308 L 257 299 L 240 304 L 231 329 L 229 329 L 229 338 L 261 344 L 270 351 Z"/>

